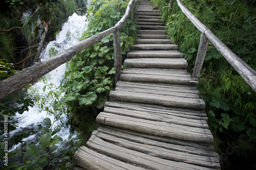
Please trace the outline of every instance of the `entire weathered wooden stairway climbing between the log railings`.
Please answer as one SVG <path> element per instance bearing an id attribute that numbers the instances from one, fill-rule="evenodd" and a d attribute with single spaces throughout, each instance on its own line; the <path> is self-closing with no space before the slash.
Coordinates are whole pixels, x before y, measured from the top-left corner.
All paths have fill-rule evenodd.
<path id="1" fill-rule="evenodd" d="M 76 169 L 220 169 L 197 80 L 153 5 L 141 0 L 137 17 L 141 39 L 96 118 L 99 128 L 76 152 Z"/>

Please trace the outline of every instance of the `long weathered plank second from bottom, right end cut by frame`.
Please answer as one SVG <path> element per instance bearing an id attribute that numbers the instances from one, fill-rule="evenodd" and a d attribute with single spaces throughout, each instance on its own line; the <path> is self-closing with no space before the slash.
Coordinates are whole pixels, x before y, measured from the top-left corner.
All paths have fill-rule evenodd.
<path id="1" fill-rule="evenodd" d="M 142 165 L 146 168 L 169 170 L 170 168 L 178 169 L 208 169 L 205 167 L 200 167 L 196 165 L 191 165 L 183 162 L 175 162 L 170 160 L 164 160 L 147 154 L 143 154 L 137 151 L 129 150 L 118 145 L 105 142 L 99 137 L 92 135 L 92 137 L 87 142 L 87 145 L 93 149 L 103 152 L 105 155 L 110 157 L 132 162 L 138 165 Z"/>

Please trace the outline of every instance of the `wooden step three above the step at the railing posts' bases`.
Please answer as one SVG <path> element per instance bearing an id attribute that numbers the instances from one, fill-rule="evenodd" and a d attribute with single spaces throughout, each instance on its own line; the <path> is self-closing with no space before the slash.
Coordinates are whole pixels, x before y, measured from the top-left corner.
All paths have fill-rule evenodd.
<path id="1" fill-rule="evenodd" d="M 131 50 L 177 50 L 176 44 L 135 44 Z"/>

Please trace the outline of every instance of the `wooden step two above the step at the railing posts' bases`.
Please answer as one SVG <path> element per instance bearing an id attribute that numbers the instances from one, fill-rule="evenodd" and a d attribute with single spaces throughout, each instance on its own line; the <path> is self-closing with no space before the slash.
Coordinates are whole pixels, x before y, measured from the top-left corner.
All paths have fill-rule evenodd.
<path id="1" fill-rule="evenodd" d="M 183 58 L 183 54 L 177 51 L 130 51 L 127 58 Z"/>

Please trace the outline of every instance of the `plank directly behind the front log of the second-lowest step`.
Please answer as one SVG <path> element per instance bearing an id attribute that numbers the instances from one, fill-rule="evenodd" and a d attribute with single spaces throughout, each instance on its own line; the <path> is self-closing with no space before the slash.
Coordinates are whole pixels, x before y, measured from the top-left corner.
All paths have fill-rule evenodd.
<path id="1" fill-rule="evenodd" d="M 161 112 L 146 112 L 146 111 L 138 111 L 131 109 L 123 109 L 123 108 L 112 108 L 105 107 L 105 113 L 114 113 L 123 116 L 130 116 L 135 118 L 141 118 L 145 120 L 152 120 L 157 122 L 166 122 L 170 124 L 177 124 L 189 127 L 203 128 L 208 129 L 208 124 L 205 120 L 198 119 L 189 119 L 184 117 L 176 117 L 174 115 L 161 113 Z"/>

